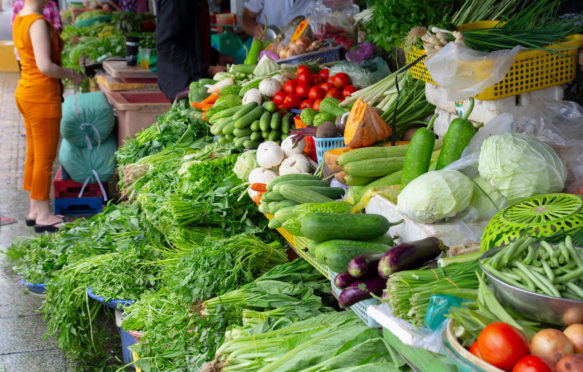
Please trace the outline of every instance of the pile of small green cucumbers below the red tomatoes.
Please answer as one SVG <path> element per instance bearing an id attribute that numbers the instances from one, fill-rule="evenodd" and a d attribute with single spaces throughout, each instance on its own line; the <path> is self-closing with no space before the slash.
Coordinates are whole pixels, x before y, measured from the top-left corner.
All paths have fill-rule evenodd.
<path id="1" fill-rule="evenodd" d="M 237 148 L 256 149 L 263 141 L 281 142 L 289 133 L 291 113 L 280 113 L 272 101 L 250 102 L 218 112 L 212 117 L 211 133 L 219 143 L 233 142 Z"/>

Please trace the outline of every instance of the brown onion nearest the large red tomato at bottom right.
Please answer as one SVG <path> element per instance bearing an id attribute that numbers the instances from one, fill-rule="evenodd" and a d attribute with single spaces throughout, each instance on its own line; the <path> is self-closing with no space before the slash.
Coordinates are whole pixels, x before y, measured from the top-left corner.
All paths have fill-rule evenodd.
<path id="1" fill-rule="evenodd" d="M 563 332 L 548 328 L 534 335 L 530 352 L 554 366 L 565 355 L 573 354 L 573 344 Z"/>

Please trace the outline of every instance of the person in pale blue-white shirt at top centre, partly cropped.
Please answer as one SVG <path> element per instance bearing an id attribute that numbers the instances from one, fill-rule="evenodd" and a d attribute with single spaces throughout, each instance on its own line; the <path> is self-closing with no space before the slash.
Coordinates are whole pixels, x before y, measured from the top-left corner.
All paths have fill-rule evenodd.
<path id="1" fill-rule="evenodd" d="M 280 30 L 297 16 L 306 16 L 314 2 L 310 0 L 247 0 L 243 10 L 243 30 L 259 39 L 267 26 L 277 26 Z"/>

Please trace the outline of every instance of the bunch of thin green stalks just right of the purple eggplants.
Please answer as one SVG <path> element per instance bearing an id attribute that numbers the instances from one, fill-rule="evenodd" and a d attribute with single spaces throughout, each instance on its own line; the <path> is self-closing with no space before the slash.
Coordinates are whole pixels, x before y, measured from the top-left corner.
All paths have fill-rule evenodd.
<path id="1" fill-rule="evenodd" d="M 429 299 L 434 294 L 447 294 L 475 299 L 478 261 L 451 263 L 435 269 L 397 272 L 387 280 L 383 302 L 388 302 L 393 315 L 415 326 L 423 326 Z"/>

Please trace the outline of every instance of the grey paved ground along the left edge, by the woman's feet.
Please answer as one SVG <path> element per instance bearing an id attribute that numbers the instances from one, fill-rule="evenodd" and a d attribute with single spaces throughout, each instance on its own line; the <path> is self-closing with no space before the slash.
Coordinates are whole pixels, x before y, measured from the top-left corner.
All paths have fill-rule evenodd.
<path id="1" fill-rule="evenodd" d="M 0 251 L 15 237 L 34 234 L 24 224 L 28 198 L 22 191 L 26 139 L 21 135 L 24 124 L 14 103 L 17 81 L 16 73 L 0 73 L 0 215 L 18 220 L 0 227 Z M 38 314 L 42 299 L 26 294 L 19 280 L 0 254 L 0 372 L 67 371 L 56 339 L 42 338 L 46 332 Z"/>

